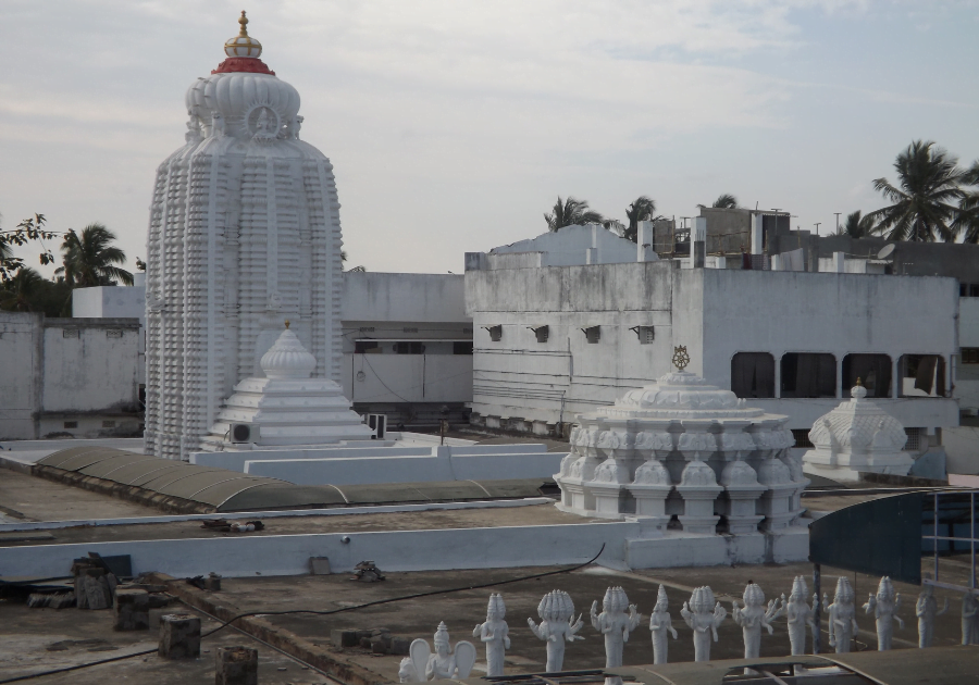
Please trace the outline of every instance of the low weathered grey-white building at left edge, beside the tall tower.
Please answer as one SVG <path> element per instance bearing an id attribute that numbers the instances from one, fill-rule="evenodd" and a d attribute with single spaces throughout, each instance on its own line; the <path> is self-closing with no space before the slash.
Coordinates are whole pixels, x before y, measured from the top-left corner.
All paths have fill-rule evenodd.
<path id="1" fill-rule="evenodd" d="M 140 431 L 137 319 L 0 311 L 0 439 Z"/>

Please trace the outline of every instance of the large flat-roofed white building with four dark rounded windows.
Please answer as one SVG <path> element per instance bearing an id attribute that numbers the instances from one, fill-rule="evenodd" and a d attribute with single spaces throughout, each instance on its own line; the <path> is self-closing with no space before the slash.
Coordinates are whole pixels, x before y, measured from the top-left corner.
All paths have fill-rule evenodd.
<path id="1" fill-rule="evenodd" d="M 952 278 L 660 261 L 468 271 L 466 297 L 473 420 L 487 426 L 570 423 L 667 373 L 677 345 L 711 385 L 788 415 L 798 447 L 857 377 L 907 427 L 909 450 L 958 425 Z"/>

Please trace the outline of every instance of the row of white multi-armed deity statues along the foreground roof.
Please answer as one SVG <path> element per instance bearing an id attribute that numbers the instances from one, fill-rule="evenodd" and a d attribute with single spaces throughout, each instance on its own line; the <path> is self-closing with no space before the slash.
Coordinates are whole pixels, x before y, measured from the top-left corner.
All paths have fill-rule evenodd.
<path id="1" fill-rule="evenodd" d="M 847 652 L 853 638 L 859 630 L 856 622 L 856 607 L 853 586 L 846 577 L 837 581 L 833 601 L 823 593 L 821 606 L 827 612 L 829 645 L 837 652 Z M 731 601 L 731 619 L 741 626 L 744 642 L 745 659 L 759 657 L 761 649 L 761 632 L 773 633 L 772 622 L 785 616 L 785 627 L 793 656 L 805 655 L 806 635 L 815 636 L 817 630 L 815 613 L 820 599 L 814 594 L 811 606 L 808 602 L 808 587 L 804 576 L 795 576 L 792 590 L 786 598 L 765 601 L 761 587 L 748 582 L 742 595 L 742 601 Z M 866 614 L 871 614 L 877 623 L 877 644 L 879 650 L 891 649 L 893 624 L 904 627 L 904 621 L 896 615 L 901 608 L 901 595 L 894 590 L 891 580 L 880 580 L 877 593 L 871 594 L 863 605 Z M 918 646 L 930 647 L 934 636 L 934 619 L 949 610 L 949 600 L 943 608 L 938 608 L 934 588 L 926 585 L 918 596 L 915 613 L 918 619 Z M 629 603 L 629 597 L 621 587 L 609 587 L 602 600 L 592 602 L 592 626 L 605 639 L 605 667 L 622 665 L 622 651 L 629 636 L 639 627 L 642 614 L 635 605 Z M 563 668 L 565 647 L 567 643 L 584 639 L 579 631 L 584 626 L 581 614 L 575 619 L 574 602 L 563 590 L 552 590 L 544 595 L 537 605 L 541 623 L 528 619 L 531 632 L 547 645 L 547 672 L 557 673 Z M 694 588 L 687 601 L 680 610 L 683 621 L 693 632 L 694 660 L 709 661 L 710 646 L 718 640 L 717 628 L 727 619 L 728 611 L 721 606 L 708 586 Z M 503 596 L 490 596 L 486 608 L 486 620 L 478 624 L 472 636 L 478 637 L 486 648 L 486 674 L 504 675 L 504 658 L 510 648 L 509 627 L 505 620 L 506 606 Z M 669 612 L 669 600 L 662 585 L 656 597 L 656 605 L 649 614 L 649 631 L 653 638 L 653 663 L 667 663 L 668 638 L 678 638 Z M 979 644 L 979 600 L 966 594 L 963 598 L 962 612 L 963 644 Z M 416 639 L 409 649 L 410 657 L 401 660 L 400 681 L 424 682 L 444 678 L 466 678 L 472 671 L 476 659 L 476 648 L 469 642 L 460 640 L 451 647 L 448 628 L 439 623 L 433 639 L 434 651 L 424 639 Z"/>

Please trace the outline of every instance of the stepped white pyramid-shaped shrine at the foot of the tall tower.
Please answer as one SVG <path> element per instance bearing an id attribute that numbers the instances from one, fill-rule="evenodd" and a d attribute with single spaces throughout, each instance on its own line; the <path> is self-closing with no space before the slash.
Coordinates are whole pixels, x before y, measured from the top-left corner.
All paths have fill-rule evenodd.
<path id="1" fill-rule="evenodd" d="M 339 385 L 310 377 L 317 360 L 289 325 L 286 322 L 285 331 L 262 356 L 264 377 L 245 378 L 235 386 L 200 449 L 236 451 L 371 439 L 371 428 L 350 408 Z M 258 426 L 259 436 L 250 443 L 233 443 L 228 432 L 234 423 Z"/>

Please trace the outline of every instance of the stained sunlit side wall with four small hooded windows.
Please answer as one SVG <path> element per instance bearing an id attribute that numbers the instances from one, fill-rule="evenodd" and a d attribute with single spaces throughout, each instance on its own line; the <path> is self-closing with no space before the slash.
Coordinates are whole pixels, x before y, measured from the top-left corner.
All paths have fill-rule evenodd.
<path id="1" fill-rule="evenodd" d="M 666 261 L 467 272 L 473 411 L 568 422 L 666 373 L 672 273 Z M 496 325 L 494 342 L 485 327 Z M 541 325 L 546 342 L 530 329 Z M 591 326 L 599 326 L 596 344 L 582 332 Z M 653 326 L 654 341 L 641 345 L 635 326 Z"/>

